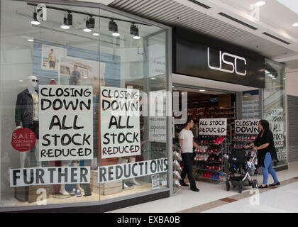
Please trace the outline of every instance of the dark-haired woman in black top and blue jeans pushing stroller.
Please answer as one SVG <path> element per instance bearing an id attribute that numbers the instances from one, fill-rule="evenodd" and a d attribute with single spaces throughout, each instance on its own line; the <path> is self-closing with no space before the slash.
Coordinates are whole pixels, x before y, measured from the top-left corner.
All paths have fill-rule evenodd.
<path id="1" fill-rule="evenodd" d="M 266 120 L 260 120 L 259 123 L 260 133 L 253 143 L 246 145 L 244 148 L 253 148 L 253 150 L 258 150 L 258 166 L 262 167 L 263 170 L 263 184 L 258 188 L 267 188 L 268 174 L 272 175 L 274 182 L 269 186 L 280 185 L 277 179 L 275 170 L 272 167 L 272 160 L 277 160 L 277 153 L 275 150 L 273 142 L 273 133 L 269 129 L 269 123 Z"/>

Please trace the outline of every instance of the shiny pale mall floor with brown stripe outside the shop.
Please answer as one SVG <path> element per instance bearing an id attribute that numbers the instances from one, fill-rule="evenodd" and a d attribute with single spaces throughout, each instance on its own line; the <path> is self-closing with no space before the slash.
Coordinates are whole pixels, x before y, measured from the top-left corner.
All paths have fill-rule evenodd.
<path id="1" fill-rule="evenodd" d="M 200 192 L 192 192 L 189 187 L 183 187 L 174 196 L 145 204 L 129 206 L 110 211 L 111 213 L 197 213 L 197 212 L 298 212 L 298 162 L 289 162 L 289 169 L 277 172 L 281 185 L 268 189 L 253 191 L 251 187 L 243 190 L 231 187 L 226 191 L 225 182 L 199 181 L 197 187 Z M 252 177 L 258 179 L 259 184 L 263 176 Z M 272 184 L 269 176 L 268 184 Z"/>

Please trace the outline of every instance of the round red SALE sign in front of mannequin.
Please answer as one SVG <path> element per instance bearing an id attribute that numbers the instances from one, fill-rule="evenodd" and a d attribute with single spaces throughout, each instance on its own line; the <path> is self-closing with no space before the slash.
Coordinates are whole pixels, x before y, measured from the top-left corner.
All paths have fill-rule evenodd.
<path id="1" fill-rule="evenodd" d="M 18 128 L 12 133 L 11 145 L 18 151 L 31 150 L 36 142 L 36 136 L 29 128 Z"/>

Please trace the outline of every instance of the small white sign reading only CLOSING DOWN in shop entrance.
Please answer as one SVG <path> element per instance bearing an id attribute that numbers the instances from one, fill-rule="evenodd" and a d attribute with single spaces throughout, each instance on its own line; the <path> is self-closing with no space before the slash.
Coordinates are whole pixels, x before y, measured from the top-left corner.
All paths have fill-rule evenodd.
<path id="1" fill-rule="evenodd" d="M 253 134 L 260 133 L 260 119 L 243 119 L 235 121 L 236 134 Z"/>

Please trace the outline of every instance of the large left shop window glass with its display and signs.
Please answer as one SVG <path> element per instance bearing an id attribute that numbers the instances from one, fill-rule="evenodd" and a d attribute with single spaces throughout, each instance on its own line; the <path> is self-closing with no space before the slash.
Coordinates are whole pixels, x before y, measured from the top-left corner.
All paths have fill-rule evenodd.
<path id="1" fill-rule="evenodd" d="M 167 121 L 144 111 L 167 90 L 167 30 L 45 6 L 1 1 L 1 206 L 167 188 Z M 152 133 L 155 121 L 164 127 Z"/>

